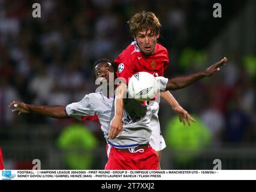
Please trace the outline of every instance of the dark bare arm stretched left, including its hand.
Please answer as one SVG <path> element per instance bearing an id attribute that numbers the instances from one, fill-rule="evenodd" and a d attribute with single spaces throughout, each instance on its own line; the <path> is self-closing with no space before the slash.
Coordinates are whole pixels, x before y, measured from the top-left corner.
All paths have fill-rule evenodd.
<path id="1" fill-rule="evenodd" d="M 57 119 L 69 118 L 66 113 L 66 106 L 35 106 L 20 101 L 13 101 L 9 107 L 13 108 L 12 112 L 17 112 L 19 115 L 20 113 L 38 113 Z"/>

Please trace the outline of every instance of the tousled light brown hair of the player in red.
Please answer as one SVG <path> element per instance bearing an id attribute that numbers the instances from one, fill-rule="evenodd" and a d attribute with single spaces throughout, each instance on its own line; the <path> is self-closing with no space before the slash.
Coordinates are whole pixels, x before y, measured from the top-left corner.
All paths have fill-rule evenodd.
<path id="1" fill-rule="evenodd" d="M 155 35 L 160 33 L 161 23 L 158 18 L 152 12 L 142 11 L 134 14 L 133 17 L 127 22 L 130 30 L 130 34 L 136 37 L 137 32 L 149 29 L 154 32 Z"/>

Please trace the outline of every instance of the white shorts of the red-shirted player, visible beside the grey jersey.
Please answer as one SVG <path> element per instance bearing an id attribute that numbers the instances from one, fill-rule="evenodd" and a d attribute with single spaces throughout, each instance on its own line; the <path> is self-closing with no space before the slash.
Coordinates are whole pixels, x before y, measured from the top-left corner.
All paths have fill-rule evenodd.
<path id="1" fill-rule="evenodd" d="M 159 104 L 156 101 L 150 101 L 149 106 L 152 109 L 152 118 L 150 121 L 152 134 L 149 140 L 149 145 L 151 145 L 155 151 L 161 151 L 166 148 L 166 143 L 161 135 L 160 123 L 158 120 Z"/>

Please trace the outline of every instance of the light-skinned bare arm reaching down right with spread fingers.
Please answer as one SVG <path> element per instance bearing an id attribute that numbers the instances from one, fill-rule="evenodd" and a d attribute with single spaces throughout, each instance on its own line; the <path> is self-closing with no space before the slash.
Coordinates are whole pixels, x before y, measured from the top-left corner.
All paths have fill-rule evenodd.
<path id="1" fill-rule="evenodd" d="M 183 109 L 183 107 L 180 106 L 178 101 L 175 100 L 175 98 L 172 96 L 172 94 L 170 94 L 169 91 L 161 92 L 161 97 L 163 97 L 164 100 L 166 100 L 167 103 L 169 103 L 172 109 L 179 116 L 180 122 L 183 122 L 184 125 L 186 125 L 186 122 L 188 125 L 190 125 L 190 121 L 196 122 L 196 120 L 193 119 L 192 116 L 190 116 L 189 113 L 185 109 Z"/>

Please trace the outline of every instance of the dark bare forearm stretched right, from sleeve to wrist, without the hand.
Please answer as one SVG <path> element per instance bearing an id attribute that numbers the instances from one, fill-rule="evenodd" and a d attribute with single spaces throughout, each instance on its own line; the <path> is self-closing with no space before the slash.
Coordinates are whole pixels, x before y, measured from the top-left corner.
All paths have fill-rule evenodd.
<path id="1" fill-rule="evenodd" d="M 205 71 L 201 71 L 187 76 L 174 77 L 168 80 L 166 90 L 182 89 L 206 76 Z"/>

